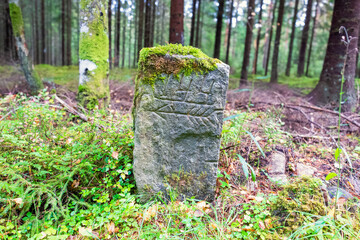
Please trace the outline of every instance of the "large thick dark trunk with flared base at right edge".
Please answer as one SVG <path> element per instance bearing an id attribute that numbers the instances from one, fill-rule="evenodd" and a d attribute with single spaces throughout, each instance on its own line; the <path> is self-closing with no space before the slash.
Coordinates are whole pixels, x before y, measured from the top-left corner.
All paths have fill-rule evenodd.
<path id="1" fill-rule="evenodd" d="M 344 33 L 339 33 L 341 26 L 347 28 L 352 40 L 347 47 L 342 41 Z M 334 108 L 340 101 L 342 71 L 345 66 L 343 85 L 343 110 L 350 111 L 356 105 L 355 68 L 356 51 L 360 27 L 360 1 L 335 0 L 331 30 L 326 49 L 320 80 L 309 94 L 311 101 L 318 105 Z M 346 38 L 345 38 L 346 40 Z M 345 64 L 345 65 L 344 65 Z"/>

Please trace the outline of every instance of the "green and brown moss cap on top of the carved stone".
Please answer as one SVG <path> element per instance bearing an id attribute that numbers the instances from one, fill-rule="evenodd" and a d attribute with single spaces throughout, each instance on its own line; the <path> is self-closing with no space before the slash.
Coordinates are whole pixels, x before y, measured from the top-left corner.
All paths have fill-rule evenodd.
<path id="1" fill-rule="evenodd" d="M 175 77 L 193 72 L 203 74 L 217 69 L 220 60 L 208 57 L 200 49 L 181 44 L 167 44 L 143 48 L 139 57 L 138 81 L 154 86 L 161 74 L 174 74 Z"/>

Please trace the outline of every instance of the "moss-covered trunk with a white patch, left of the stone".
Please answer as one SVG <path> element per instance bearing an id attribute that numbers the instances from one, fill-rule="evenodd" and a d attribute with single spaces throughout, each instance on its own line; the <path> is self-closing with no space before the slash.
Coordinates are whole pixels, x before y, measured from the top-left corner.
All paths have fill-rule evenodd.
<path id="1" fill-rule="evenodd" d="M 80 1 L 79 103 L 88 109 L 106 107 L 109 93 L 107 0 Z"/>

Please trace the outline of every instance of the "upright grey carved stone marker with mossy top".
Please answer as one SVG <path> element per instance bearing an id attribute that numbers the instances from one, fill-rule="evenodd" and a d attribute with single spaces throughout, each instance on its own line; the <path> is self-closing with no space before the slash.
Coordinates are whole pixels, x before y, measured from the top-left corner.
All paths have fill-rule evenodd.
<path id="1" fill-rule="evenodd" d="M 140 52 L 134 98 L 134 174 L 145 199 L 215 194 L 229 66 L 169 44 Z"/>

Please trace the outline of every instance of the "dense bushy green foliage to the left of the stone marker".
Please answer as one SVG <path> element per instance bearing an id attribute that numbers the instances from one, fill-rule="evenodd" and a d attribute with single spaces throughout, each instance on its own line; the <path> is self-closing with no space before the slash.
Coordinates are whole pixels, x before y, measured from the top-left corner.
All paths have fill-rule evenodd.
<path id="1" fill-rule="evenodd" d="M 47 92 L 0 100 L 0 216 L 22 219 L 22 236 L 134 187 L 128 116 L 95 111 L 82 122 L 53 102 Z"/>

